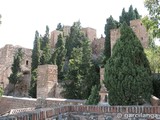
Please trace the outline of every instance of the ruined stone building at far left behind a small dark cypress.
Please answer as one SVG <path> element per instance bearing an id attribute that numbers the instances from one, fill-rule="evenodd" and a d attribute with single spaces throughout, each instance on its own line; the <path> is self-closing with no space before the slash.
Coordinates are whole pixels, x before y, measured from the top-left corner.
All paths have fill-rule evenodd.
<path id="1" fill-rule="evenodd" d="M 8 86 L 9 80 L 8 77 L 11 74 L 11 66 L 13 63 L 13 58 L 15 53 L 17 52 L 20 46 L 13 46 L 13 45 L 5 45 L 3 48 L 0 49 L 0 86 L 5 89 L 5 93 L 8 92 L 6 87 Z M 31 55 L 32 50 L 27 48 L 22 48 L 23 59 L 22 59 L 22 72 L 23 79 L 27 86 L 21 86 L 23 89 L 29 86 L 30 83 L 30 69 L 31 69 Z M 19 88 L 19 86 L 16 86 Z M 27 88 L 26 88 L 27 91 Z"/>

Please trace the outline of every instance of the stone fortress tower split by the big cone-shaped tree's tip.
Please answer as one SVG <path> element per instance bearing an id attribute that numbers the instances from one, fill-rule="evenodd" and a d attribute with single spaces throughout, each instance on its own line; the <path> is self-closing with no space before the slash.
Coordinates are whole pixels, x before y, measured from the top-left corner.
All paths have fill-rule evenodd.
<path id="1" fill-rule="evenodd" d="M 132 20 L 130 21 L 130 27 L 140 40 L 142 46 L 144 48 L 148 47 L 148 33 L 145 26 L 142 24 L 141 20 Z M 111 49 L 113 48 L 114 44 L 116 43 L 117 39 L 120 37 L 120 29 L 112 29 L 110 31 L 110 38 L 111 38 Z"/>

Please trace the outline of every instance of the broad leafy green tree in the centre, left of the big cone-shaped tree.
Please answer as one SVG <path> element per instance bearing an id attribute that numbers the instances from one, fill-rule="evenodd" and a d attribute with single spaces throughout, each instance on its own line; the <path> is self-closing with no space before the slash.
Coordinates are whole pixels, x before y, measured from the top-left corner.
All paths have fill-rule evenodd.
<path id="1" fill-rule="evenodd" d="M 90 43 L 87 38 L 82 41 L 81 48 L 74 48 L 67 75 L 65 76 L 64 96 L 72 99 L 87 99 L 91 88 L 99 85 L 98 73 L 92 63 Z"/>

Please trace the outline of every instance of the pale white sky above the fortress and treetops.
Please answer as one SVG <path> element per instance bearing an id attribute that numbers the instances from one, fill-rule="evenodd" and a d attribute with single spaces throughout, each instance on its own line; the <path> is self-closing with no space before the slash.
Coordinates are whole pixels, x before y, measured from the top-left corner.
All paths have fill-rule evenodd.
<path id="1" fill-rule="evenodd" d="M 5 44 L 32 48 L 35 31 L 44 35 L 45 26 L 50 32 L 60 22 L 72 25 L 80 20 L 82 27 L 97 30 L 97 37 L 104 34 L 106 18 L 119 20 L 122 9 L 128 11 L 132 4 L 139 14 L 147 15 L 144 0 L 0 0 L 0 47 Z"/>

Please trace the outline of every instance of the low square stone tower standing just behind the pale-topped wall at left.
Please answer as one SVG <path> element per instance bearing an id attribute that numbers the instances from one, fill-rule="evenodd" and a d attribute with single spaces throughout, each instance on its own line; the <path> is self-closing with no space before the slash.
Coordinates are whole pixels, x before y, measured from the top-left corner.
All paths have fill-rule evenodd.
<path id="1" fill-rule="evenodd" d="M 37 98 L 55 97 L 57 74 L 57 65 L 38 66 Z"/>

